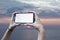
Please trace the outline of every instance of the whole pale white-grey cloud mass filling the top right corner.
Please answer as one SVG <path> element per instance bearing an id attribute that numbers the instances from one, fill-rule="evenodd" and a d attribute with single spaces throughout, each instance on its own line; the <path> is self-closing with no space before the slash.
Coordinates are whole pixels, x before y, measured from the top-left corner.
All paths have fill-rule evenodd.
<path id="1" fill-rule="evenodd" d="M 60 8 L 60 0 L 16 0 L 19 2 L 33 4 L 36 7 Z"/>

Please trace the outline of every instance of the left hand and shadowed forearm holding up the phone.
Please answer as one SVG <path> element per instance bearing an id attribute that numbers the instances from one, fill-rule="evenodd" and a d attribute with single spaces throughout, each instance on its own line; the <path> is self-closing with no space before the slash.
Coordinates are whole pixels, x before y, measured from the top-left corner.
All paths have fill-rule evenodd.
<path id="1" fill-rule="evenodd" d="M 10 22 L 10 25 L 8 27 L 8 29 L 6 30 L 5 34 L 3 35 L 2 39 L 1 40 L 9 40 L 10 36 L 11 36 L 11 33 L 13 32 L 14 28 L 16 26 L 19 26 L 20 24 L 15 24 L 13 22 L 13 16 L 14 14 L 12 15 L 11 17 L 11 22 Z"/>

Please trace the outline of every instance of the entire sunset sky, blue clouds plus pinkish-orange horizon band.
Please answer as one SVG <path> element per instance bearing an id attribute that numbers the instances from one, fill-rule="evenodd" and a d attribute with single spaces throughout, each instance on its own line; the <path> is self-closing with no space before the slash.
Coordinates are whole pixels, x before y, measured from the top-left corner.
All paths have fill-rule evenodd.
<path id="1" fill-rule="evenodd" d="M 36 7 L 44 25 L 60 25 L 60 0 L 0 0 L 0 23 L 9 23 L 12 12 L 25 7 Z"/>

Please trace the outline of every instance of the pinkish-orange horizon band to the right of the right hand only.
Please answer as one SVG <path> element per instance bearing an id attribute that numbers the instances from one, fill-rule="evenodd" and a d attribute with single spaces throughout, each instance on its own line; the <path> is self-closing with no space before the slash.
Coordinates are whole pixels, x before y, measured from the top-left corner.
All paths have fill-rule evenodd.
<path id="1" fill-rule="evenodd" d="M 60 25 L 60 18 L 41 18 L 44 25 Z"/>

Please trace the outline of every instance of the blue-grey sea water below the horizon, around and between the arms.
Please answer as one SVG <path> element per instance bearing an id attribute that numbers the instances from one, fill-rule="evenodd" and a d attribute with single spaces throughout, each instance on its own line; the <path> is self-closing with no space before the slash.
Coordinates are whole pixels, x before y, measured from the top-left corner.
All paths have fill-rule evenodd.
<path id="1" fill-rule="evenodd" d="M 0 39 L 8 28 L 9 24 L 0 24 Z M 60 26 L 45 25 L 45 40 L 60 40 Z M 27 29 L 19 26 L 14 29 L 10 40 L 37 40 L 38 32 L 36 29 Z"/>

